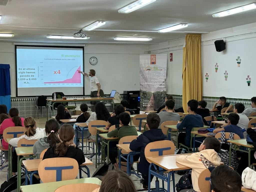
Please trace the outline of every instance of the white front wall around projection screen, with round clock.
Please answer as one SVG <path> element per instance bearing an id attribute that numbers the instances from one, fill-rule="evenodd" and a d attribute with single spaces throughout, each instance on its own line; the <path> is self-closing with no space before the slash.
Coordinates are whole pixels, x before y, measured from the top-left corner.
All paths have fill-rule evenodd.
<path id="1" fill-rule="evenodd" d="M 64 45 L 63 45 L 64 46 Z M 71 45 L 73 46 L 73 45 Z M 94 69 L 105 94 L 112 89 L 123 93 L 125 90 L 140 90 L 140 54 L 143 46 L 134 45 L 88 45 L 84 47 L 85 72 Z M 98 58 L 92 66 L 89 58 Z M 13 42 L 0 42 L 0 63 L 10 65 L 11 97 L 16 97 L 15 46 Z M 85 77 L 85 94 L 90 94 L 89 78 Z"/>

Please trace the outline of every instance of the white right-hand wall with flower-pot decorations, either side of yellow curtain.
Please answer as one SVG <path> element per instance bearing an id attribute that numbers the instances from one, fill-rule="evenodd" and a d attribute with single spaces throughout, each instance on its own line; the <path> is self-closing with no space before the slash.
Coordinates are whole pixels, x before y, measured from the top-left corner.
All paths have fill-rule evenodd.
<path id="1" fill-rule="evenodd" d="M 226 41 L 226 50 L 217 52 L 214 41 Z M 158 46 L 149 46 L 147 51 L 173 53 L 173 62 L 169 62 L 168 74 L 169 94 L 182 94 L 182 59 L 184 39 L 163 42 Z M 251 98 L 256 95 L 256 65 L 255 65 L 256 23 L 214 31 L 201 37 L 201 65 L 203 76 L 203 96 Z M 236 58 L 242 61 L 237 66 Z M 215 72 L 215 64 L 219 64 Z M 225 81 L 224 72 L 228 71 Z M 206 82 L 205 74 L 209 74 Z M 251 86 L 248 87 L 246 78 L 250 75 Z M 168 82 L 167 82 L 168 83 Z"/>

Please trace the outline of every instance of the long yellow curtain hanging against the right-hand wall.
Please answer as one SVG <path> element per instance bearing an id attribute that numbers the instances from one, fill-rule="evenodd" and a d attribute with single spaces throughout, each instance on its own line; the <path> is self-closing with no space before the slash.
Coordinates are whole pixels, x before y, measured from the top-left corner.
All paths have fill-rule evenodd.
<path id="1" fill-rule="evenodd" d="M 187 102 L 202 100 L 201 34 L 187 34 L 183 47 L 182 106 L 187 112 Z"/>

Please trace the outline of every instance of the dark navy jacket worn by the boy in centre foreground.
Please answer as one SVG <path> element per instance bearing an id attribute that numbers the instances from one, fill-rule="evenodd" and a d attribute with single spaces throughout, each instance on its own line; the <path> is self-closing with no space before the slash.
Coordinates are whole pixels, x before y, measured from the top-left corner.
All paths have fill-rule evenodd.
<path id="1" fill-rule="evenodd" d="M 146 160 L 145 157 L 145 147 L 148 143 L 154 141 L 163 141 L 167 140 L 167 136 L 163 134 L 162 129 L 150 129 L 145 131 L 143 134 L 137 137 L 137 139 L 133 140 L 130 144 L 130 149 L 132 151 L 140 151 L 140 162 L 138 164 L 138 171 L 143 175 L 148 175 L 148 168 L 150 163 Z"/>

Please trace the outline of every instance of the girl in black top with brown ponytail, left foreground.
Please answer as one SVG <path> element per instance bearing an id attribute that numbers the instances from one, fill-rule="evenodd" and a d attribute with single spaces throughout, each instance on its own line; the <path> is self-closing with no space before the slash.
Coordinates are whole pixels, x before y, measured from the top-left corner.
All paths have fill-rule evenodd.
<path id="1" fill-rule="evenodd" d="M 50 147 L 45 152 L 43 159 L 54 157 L 69 157 L 76 159 L 78 165 L 85 162 L 84 154 L 74 143 L 75 131 L 70 124 L 64 124 L 59 130 L 60 143 Z"/>

